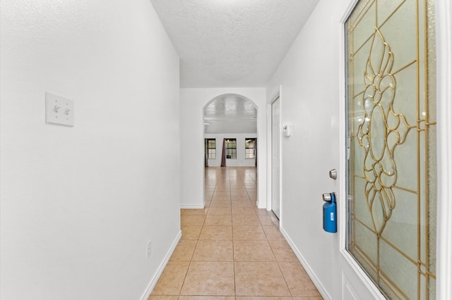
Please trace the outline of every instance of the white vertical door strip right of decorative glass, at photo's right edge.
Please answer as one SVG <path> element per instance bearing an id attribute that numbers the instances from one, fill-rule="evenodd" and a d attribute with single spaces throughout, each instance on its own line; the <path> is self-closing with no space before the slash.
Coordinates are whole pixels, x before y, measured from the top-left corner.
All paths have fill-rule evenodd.
<path id="1" fill-rule="evenodd" d="M 437 224 L 436 296 L 452 299 L 452 4 L 437 0 L 436 18 L 436 118 L 437 150 Z"/>

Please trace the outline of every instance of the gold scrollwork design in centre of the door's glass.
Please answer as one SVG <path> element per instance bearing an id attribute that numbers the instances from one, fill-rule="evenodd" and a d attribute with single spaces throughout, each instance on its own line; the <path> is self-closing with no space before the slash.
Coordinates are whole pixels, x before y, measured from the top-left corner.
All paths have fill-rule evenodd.
<path id="1" fill-rule="evenodd" d="M 377 235 L 381 235 L 396 206 L 393 187 L 397 181 L 394 150 L 403 144 L 411 126 L 394 111 L 396 78 L 391 73 L 394 55 L 378 28 L 364 70 L 362 118 L 357 139 L 364 150 L 365 196 Z"/>

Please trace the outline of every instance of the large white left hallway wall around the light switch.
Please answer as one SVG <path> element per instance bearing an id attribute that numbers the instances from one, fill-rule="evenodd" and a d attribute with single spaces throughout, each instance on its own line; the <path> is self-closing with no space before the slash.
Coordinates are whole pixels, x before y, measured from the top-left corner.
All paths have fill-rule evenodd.
<path id="1" fill-rule="evenodd" d="M 180 233 L 179 58 L 150 1 L 2 0 L 0 83 L 0 298 L 145 296 Z"/>

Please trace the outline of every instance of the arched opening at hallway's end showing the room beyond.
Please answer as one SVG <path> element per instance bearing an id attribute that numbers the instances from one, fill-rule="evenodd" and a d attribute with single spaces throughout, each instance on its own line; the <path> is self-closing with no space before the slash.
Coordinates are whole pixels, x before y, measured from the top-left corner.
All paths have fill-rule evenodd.
<path id="1" fill-rule="evenodd" d="M 206 206 L 214 199 L 215 189 L 227 189 L 231 179 L 237 179 L 250 201 L 256 203 L 257 111 L 256 104 L 240 94 L 215 96 L 204 106 Z"/>

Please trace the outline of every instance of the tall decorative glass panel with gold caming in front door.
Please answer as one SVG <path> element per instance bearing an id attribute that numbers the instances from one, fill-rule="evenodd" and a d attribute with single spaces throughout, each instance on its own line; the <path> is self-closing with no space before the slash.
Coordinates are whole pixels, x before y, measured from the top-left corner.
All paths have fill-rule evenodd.
<path id="1" fill-rule="evenodd" d="M 360 0 L 347 43 L 347 251 L 388 299 L 435 299 L 434 0 Z"/>

